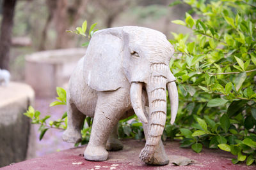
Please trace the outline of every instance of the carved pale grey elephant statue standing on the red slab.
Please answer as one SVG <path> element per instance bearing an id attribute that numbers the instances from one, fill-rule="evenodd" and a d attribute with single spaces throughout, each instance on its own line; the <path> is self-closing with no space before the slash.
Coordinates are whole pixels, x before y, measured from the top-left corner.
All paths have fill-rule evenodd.
<path id="1" fill-rule="evenodd" d="M 107 150 L 120 150 L 118 121 L 134 113 L 143 123 L 146 144 L 140 159 L 165 165 L 161 135 L 166 122 L 166 87 L 171 103 L 171 124 L 179 105 L 175 77 L 169 62 L 173 47 L 163 33 L 145 27 L 102 29 L 93 34 L 86 55 L 73 71 L 67 90 L 68 127 L 63 140 L 81 140 L 86 116 L 93 117 L 84 159 L 108 159 Z"/>

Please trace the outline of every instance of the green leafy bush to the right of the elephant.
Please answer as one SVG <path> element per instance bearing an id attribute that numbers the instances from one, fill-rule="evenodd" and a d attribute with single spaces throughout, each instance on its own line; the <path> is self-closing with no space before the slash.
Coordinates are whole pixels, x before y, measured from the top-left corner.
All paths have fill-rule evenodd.
<path id="1" fill-rule="evenodd" d="M 191 6 L 190 14 L 173 23 L 193 35 L 172 32 L 170 40 L 180 102 L 175 136 L 182 136 L 181 147 L 220 148 L 237 155 L 234 164 L 246 160 L 250 165 L 256 154 L 256 3 L 184 3 Z"/>

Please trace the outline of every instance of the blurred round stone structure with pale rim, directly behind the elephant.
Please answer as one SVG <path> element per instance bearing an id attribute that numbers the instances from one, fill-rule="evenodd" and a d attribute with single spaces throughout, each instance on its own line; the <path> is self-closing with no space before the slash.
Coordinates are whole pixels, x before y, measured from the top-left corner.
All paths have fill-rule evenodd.
<path id="1" fill-rule="evenodd" d="M 38 97 L 56 96 L 56 87 L 68 82 L 86 48 L 69 48 L 36 52 L 26 56 L 26 83 Z"/>

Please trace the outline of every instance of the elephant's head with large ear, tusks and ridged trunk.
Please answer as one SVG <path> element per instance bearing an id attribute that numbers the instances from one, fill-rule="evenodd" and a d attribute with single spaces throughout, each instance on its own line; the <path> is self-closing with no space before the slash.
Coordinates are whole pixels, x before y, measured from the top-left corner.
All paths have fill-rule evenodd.
<path id="1" fill-rule="evenodd" d="M 97 50 L 95 50 L 95 48 Z M 166 87 L 171 103 L 171 124 L 179 104 L 175 78 L 169 62 L 173 47 L 163 33 L 144 27 L 116 27 L 93 34 L 84 59 L 85 78 L 97 91 L 130 88 L 131 104 L 141 122 L 148 124 L 148 136 L 140 158 L 152 157 L 166 122 Z M 142 89 L 148 96 L 149 120 L 141 102 Z"/>

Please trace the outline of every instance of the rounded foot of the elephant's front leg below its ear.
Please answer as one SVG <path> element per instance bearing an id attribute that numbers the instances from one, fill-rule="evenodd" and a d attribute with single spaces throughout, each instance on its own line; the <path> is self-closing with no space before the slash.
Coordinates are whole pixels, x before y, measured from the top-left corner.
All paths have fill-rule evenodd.
<path id="1" fill-rule="evenodd" d="M 108 159 L 108 152 L 102 146 L 87 146 L 84 151 L 84 159 L 103 161 Z"/>

